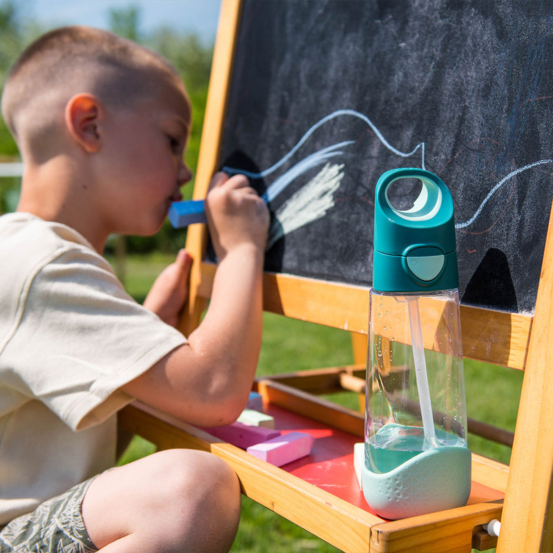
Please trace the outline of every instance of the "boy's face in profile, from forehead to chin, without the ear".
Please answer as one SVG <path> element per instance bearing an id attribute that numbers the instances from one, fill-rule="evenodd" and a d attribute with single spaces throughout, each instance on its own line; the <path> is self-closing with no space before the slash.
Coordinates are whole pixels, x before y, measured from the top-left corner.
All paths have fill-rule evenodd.
<path id="1" fill-rule="evenodd" d="M 155 93 L 130 109 L 106 111 L 102 150 L 109 186 L 102 212 L 111 232 L 154 234 L 191 179 L 183 161 L 191 126 L 185 88 L 156 77 Z"/>

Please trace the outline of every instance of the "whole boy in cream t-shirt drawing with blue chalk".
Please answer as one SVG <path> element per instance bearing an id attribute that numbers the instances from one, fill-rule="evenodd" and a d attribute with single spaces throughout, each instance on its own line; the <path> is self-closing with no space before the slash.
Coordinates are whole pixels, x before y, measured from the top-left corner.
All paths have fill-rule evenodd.
<path id="1" fill-rule="evenodd" d="M 112 233 L 155 233 L 191 178 L 191 107 L 176 71 L 109 32 L 61 28 L 21 55 L 1 108 L 25 170 L 17 212 L 0 217 L 0 551 L 228 550 L 240 489 L 222 460 L 172 450 L 106 469 L 115 413 L 133 398 L 201 426 L 245 407 L 265 203 L 243 176 L 214 176 L 218 268 L 205 319 L 185 338 L 174 326 L 187 252 L 144 306 L 100 256 Z"/>

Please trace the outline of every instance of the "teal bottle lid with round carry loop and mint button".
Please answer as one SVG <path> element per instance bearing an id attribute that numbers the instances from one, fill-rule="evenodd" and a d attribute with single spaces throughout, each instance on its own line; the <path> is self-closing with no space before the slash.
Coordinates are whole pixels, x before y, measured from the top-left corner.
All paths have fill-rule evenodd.
<path id="1" fill-rule="evenodd" d="M 396 180 L 422 183 L 410 209 L 393 207 Z M 375 190 L 373 288 L 380 292 L 430 292 L 458 288 L 453 199 L 444 182 L 417 168 L 386 171 Z"/>

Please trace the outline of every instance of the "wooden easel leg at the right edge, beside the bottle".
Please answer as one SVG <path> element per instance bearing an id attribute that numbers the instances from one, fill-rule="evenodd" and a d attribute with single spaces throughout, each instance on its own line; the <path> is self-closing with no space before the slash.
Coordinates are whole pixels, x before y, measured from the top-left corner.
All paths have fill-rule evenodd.
<path id="1" fill-rule="evenodd" d="M 518 409 L 498 553 L 553 552 L 553 219 Z"/>

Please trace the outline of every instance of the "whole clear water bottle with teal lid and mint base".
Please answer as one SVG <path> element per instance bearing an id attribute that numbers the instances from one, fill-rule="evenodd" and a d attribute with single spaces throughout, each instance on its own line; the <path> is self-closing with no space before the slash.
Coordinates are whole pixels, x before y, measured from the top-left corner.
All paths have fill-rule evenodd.
<path id="1" fill-rule="evenodd" d="M 394 207 L 398 180 L 418 182 Z M 405 181 L 404 181 L 405 182 Z M 423 169 L 393 169 L 375 190 L 364 466 L 366 501 L 397 519 L 460 507 L 471 486 L 453 200 Z"/>

